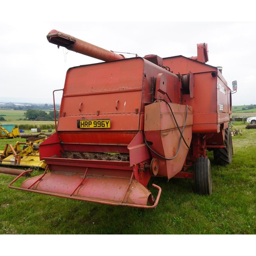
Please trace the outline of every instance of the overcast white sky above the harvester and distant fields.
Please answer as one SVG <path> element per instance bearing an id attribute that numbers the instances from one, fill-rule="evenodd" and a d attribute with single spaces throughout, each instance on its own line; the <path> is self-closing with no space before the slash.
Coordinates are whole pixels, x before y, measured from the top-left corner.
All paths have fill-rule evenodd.
<path id="1" fill-rule="evenodd" d="M 11 8 L 11 4 L 4 5 Z M 70 67 L 101 62 L 50 44 L 46 35 L 56 29 L 106 50 L 124 52 L 125 57 L 134 57 L 135 54 L 140 57 L 147 54 L 160 57 L 197 56 L 197 44 L 205 42 L 208 44 L 207 64 L 223 67 L 222 74 L 230 88 L 233 80 L 238 82 L 237 93 L 232 95 L 232 104 L 256 104 L 256 22 L 253 20 L 181 21 L 185 20 L 181 16 L 186 16 L 186 13 L 181 11 L 178 21 L 168 21 L 166 16 L 164 21 L 152 21 L 154 13 L 159 13 L 159 9 L 152 8 L 142 13 L 135 8 L 129 9 L 130 17 L 131 13 L 134 13 L 135 18 L 126 21 L 127 18 L 125 20 L 122 15 L 127 17 L 127 10 L 125 9 L 125 12 L 119 6 L 105 6 L 110 9 L 102 16 L 99 15 L 99 10 L 96 10 L 97 18 L 92 15 L 97 6 L 85 8 L 84 17 L 87 18 L 83 19 L 81 11 L 67 14 L 72 7 L 67 6 L 66 1 L 51 7 L 52 10 L 47 6 L 42 7 L 38 17 L 37 13 L 28 11 L 24 5 L 9 9 L 12 11 L 7 14 L 2 11 L 0 102 L 53 103 L 53 91 L 63 88 L 66 72 Z M 49 21 L 50 18 L 58 20 L 56 17 L 63 9 L 66 9 L 66 14 L 62 15 L 62 18 L 65 17 L 66 21 Z M 76 7 L 75 10 L 79 9 Z M 100 10 L 103 11 L 102 8 Z M 172 10 L 169 15 L 175 15 L 177 12 L 173 8 L 169 10 Z M 163 6 L 162 11 L 166 12 Z M 204 12 L 200 13 L 202 16 Z M 94 18 L 89 18 L 90 15 Z M 211 17 L 214 15 L 215 13 L 211 14 Z M 117 16 L 120 21 L 113 18 Z M 156 14 L 154 19 L 159 20 L 157 17 Z M 55 94 L 57 103 L 60 103 L 61 94 Z"/>

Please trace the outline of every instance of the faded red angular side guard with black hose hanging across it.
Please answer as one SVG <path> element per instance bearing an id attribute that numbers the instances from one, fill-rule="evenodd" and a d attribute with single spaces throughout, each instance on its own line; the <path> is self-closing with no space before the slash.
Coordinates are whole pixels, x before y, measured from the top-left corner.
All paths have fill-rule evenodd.
<path id="1" fill-rule="evenodd" d="M 169 105 L 189 146 L 192 138 L 192 108 L 189 106 L 186 110 L 185 105 Z M 145 138 L 151 144 L 152 156 L 159 159 L 158 174 L 168 179 L 180 172 L 188 153 L 175 119 L 163 101 L 156 101 L 145 107 Z"/>

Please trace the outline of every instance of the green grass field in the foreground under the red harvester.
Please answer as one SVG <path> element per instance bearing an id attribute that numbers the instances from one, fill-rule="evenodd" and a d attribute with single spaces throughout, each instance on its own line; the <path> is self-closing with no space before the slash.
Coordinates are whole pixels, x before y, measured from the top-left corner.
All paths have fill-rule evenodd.
<path id="1" fill-rule="evenodd" d="M 217 166 L 209 153 L 211 196 L 196 195 L 193 180 L 154 178 L 162 188 L 156 209 L 118 207 L 10 189 L 15 177 L 1 174 L 0 233 L 255 234 L 256 130 L 234 125 L 243 131 L 232 137 L 232 163 Z"/>

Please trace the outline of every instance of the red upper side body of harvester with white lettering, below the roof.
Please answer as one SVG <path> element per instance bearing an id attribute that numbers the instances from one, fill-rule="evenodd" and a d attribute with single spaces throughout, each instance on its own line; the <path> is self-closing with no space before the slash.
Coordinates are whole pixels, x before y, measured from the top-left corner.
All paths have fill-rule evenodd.
<path id="1" fill-rule="evenodd" d="M 183 56 L 166 58 L 164 65 L 175 74 L 194 74 L 194 98 L 182 96 L 182 104 L 193 106 L 193 133 L 219 133 L 231 114 L 231 90 L 218 68 Z"/>

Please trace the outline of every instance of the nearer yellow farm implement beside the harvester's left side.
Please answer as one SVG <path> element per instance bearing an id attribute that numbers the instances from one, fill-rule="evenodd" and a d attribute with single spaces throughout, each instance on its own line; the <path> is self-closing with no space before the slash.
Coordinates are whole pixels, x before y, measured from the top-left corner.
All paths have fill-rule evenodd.
<path id="1" fill-rule="evenodd" d="M 45 137 L 36 138 L 35 141 L 16 142 L 15 146 L 6 144 L 4 151 L 0 151 L 1 165 L 15 165 L 38 167 L 45 169 L 46 162 L 39 159 L 39 144 L 44 141 Z M 20 145 L 24 145 L 23 148 Z"/>

